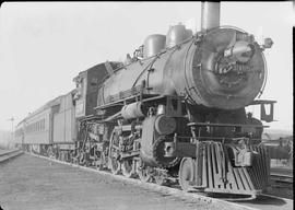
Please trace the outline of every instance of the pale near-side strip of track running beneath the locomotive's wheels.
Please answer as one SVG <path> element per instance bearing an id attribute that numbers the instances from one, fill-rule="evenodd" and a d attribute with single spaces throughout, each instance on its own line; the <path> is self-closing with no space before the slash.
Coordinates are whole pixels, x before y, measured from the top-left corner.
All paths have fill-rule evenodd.
<path id="1" fill-rule="evenodd" d="M 82 166 L 82 165 L 76 165 L 76 164 L 72 164 L 72 163 L 68 163 L 68 162 L 62 162 L 56 159 L 50 159 L 47 156 L 43 156 L 39 154 L 33 154 L 33 153 L 27 153 L 30 155 L 33 156 L 37 156 L 37 158 L 42 158 L 42 159 L 46 159 L 48 161 L 51 162 L 57 162 L 60 164 L 66 164 L 66 165 L 70 165 L 73 167 L 78 167 L 81 170 L 85 170 L 85 171 L 90 171 L 99 175 L 104 175 L 104 176 L 110 176 L 117 180 L 120 180 L 122 183 L 126 184 L 131 184 L 131 185 L 137 185 L 140 187 L 143 187 L 145 189 L 149 190 L 154 190 L 157 192 L 162 192 L 165 195 L 169 195 L 169 196 L 175 196 L 177 198 L 180 199 L 185 199 L 189 202 L 196 202 L 196 201 L 203 201 L 203 202 L 208 202 L 208 203 L 219 203 L 221 207 L 227 207 L 225 209 L 248 209 L 248 210 L 258 210 L 258 209 L 262 209 L 262 210 L 272 210 L 272 208 L 270 208 L 270 206 L 268 205 L 268 202 L 274 205 L 273 209 L 276 209 L 275 206 L 280 206 L 281 210 L 284 209 L 292 209 L 290 207 L 293 207 L 293 200 L 291 199 L 285 199 L 285 198 L 281 198 L 281 197 L 275 197 L 275 196 L 271 196 L 271 195 L 266 195 L 262 194 L 258 197 L 258 199 L 256 200 L 236 200 L 236 201 L 228 201 L 228 200 L 224 200 L 224 199 L 220 199 L 220 198 L 212 198 L 212 197 L 208 197 L 203 194 L 197 194 L 197 192 L 185 192 L 181 189 L 175 188 L 175 187 L 167 187 L 167 186 L 160 186 L 156 185 L 154 183 L 143 183 L 139 179 L 134 179 L 134 178 L 127 178 L 125 176 L 121 175 L 114 175 L 107 171 L 97 171 L 94 167 L 86 167 L 86 166 Z"/>

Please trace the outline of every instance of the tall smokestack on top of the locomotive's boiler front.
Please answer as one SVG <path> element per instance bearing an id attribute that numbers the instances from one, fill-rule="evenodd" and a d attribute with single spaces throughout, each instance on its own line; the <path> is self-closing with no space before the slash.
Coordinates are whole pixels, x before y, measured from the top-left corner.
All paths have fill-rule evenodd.
<path id="1" fill-rule="evenodd" d="M 220 2 L 203 2 L 202 1 L 202 16 L 201 16 L 201 30 L 211 30 L 220 26 Z"/>

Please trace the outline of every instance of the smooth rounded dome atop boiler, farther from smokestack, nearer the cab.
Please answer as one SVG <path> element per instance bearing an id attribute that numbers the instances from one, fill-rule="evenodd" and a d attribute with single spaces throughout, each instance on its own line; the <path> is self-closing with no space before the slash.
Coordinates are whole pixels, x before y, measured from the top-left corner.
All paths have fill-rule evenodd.
<path id="1" fill-rule="evenodd" d="M 152 34 L 144 40 L 143 58 L 148 58 L 158 54 L 165 48 L 166 36 L 161 34 Z"/>

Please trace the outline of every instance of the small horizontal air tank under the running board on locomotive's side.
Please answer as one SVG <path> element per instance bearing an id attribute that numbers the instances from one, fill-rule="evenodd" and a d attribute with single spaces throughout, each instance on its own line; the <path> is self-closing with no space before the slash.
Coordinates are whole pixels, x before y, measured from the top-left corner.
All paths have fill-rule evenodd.
<path id="1" fill-rule="evenodd" d="M 122 107 L 121 115 L 125 119 L 133 119 L 138 117 L 144 117 L 145 109 L 140 102 L 128 104 Z"/>

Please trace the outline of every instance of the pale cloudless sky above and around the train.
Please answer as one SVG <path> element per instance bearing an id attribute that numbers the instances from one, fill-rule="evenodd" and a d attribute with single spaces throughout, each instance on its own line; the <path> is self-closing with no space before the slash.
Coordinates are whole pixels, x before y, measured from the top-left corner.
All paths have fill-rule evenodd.
<path id="1" fill-rule="evenodd" d="M 150 34 L 169 25 L 200 28 L 201 2 L 4 2 L 0 8 L 0 130 L 11 129 L 46 102 L 74 89 L 80 71 L 106 60 L 123 61 Z M 292 1 L 221 2 L 221 25 L 258 39 L 268 81 L 261 100 L 275 100 L 274 129 L 293 129 Z M 256 109 L 252 109 L 255 115 Z"/>

